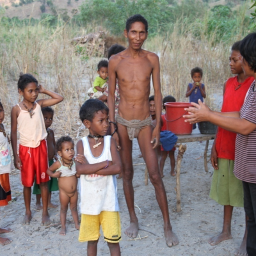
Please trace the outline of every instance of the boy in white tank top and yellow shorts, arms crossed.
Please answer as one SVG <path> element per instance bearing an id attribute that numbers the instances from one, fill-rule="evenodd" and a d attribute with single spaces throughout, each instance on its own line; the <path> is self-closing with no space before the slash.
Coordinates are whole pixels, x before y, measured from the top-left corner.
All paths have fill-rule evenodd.
<path id="1" fill-rule="evenodd" d="M 84 102 L 80 119 L 90 134 L 77 142 L 76 170 L 81 175 L 81 228 L 79 241 L 86 242 L 87 255 L 97 255 L 100 225 L 111 256 L 120 255 L 121 223 L 116 174 L 121 160 L 108 131 L 108 107 L 98 99 Z M 81 161 L 83 163 L 81 164 Z"/>

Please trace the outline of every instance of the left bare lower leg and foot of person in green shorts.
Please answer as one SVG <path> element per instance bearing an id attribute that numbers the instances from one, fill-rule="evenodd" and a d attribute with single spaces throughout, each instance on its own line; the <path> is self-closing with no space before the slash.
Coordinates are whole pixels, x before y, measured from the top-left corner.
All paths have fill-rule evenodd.
<path id="1" fill-rule="evenodd" d="M 231 236 L 231 218 L 233 212 L 233 206 L 224 205 L 224 220 L 223 220 L 223 228 L 218 236 L 214 236 L 209 239 L 208 243 L 212 246 L 218 244 L 224 240 L 232 239 Z"/>

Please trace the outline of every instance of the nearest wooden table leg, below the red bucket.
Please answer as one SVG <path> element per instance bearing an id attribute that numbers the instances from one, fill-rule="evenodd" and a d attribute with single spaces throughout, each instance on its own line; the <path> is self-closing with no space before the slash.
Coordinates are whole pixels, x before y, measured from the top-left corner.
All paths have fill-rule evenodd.
<path id="1" fill-rule="evenodd" d="M 181 166 L 181 160 L 182 157 L 184 155 L 184 153 L 186 152 L 187 146 L 186 145 L 182 145 L 182 143 L 180 143 L 180 147 L 179 147 L 179 153 L 177 156 L 177 173 L 176 173 L 176 211 L 180 212 L 181 211 L 181 205 L 180 205 L 180 166 Z"/>

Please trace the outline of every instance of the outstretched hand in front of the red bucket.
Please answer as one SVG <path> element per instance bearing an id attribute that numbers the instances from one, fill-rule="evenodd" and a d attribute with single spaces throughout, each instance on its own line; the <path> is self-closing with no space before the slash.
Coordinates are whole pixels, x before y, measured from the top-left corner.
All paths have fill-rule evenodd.
<path id="1" fill-rule="evenodd" d="M 193 107 L 185 108 L 188 111 L 188 115 L 184 115 L 185 122 L 195 124 L 198 122 L 209 121 L 211 109 L 208 108 L 201 100 L 198 100 L 198 104 L 190 102 Z"/>

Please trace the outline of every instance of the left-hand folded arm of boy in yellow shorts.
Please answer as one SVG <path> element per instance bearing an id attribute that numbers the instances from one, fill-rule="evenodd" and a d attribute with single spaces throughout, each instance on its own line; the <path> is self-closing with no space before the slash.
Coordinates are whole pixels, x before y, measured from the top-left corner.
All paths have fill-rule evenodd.
<path id="1" fill-rule="evenodd" d="M 93 174 L 103 169 L 108 164 L 108 161 L 104 161 L 97 164 L 89 164 L 84 157 L 83 141 L 79 140 L 76 145 L 77 157 L 76 157 L 76 172 L 80 174 Z"/>

